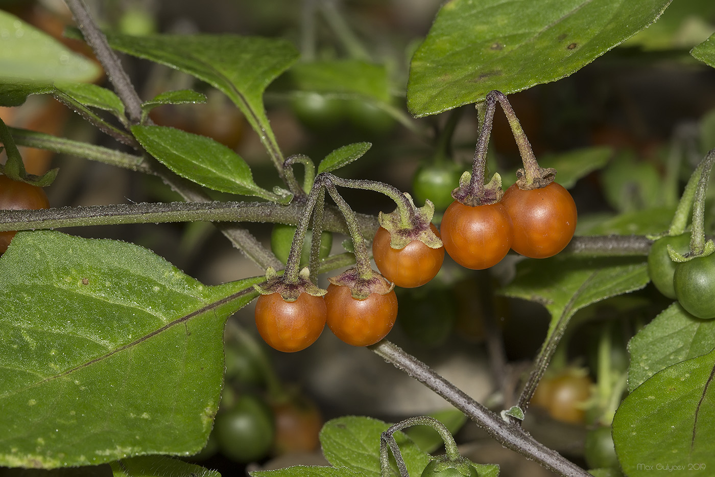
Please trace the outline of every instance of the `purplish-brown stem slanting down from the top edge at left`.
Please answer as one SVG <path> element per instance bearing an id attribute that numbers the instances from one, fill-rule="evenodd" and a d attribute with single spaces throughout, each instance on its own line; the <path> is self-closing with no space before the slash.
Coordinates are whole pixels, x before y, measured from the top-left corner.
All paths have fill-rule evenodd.
<path id="1" fill-rule="evenodd" d="M 74 21 L 82 31 L 84 39 L 87 40 L 97 59 L 102 63 L 109 81 L 112 82 L 114 90 L 117 91 L 117 96 L 124 103 L 129 120 L 134 124 L 139 124 L 142 120 L 142 100 L 139 99 L 137 91 L 134 90 L 134 85 L 129 81 L 129 76 L 124 72 L 117 54 L 114 54 L 114 50 L 109 47 L 107 37 L 104 37 L 102 31 L 94 23 L 82 0 L 65 0 L 65 3 L 72 12 Z"/>

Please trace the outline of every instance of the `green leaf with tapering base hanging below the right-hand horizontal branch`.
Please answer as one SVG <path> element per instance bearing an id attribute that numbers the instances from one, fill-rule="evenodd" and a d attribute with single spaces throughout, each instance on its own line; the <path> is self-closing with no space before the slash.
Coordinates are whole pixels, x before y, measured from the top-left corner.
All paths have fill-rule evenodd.
<path id="1" fill-rule="evenodd" d="M 589 304 L 643 288 L 651 279 L 645 257 L 524 260 L 501 290 L 507 297 L 538 302 L 551 314 L 544 350 L 563 334 L 574 313 Z"/>

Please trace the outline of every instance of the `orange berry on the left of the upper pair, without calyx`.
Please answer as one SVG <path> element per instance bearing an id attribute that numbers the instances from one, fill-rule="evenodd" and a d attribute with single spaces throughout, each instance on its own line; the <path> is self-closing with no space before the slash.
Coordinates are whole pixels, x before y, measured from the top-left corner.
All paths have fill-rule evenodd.
<path id="1" fill-rule="evenodd" d="M 445 251 L 461 266 L 488 269 L 506 256 L 511 248 L 511 218 L 501 203 L 465 206 L 454 201 L 440 224 Z"/>

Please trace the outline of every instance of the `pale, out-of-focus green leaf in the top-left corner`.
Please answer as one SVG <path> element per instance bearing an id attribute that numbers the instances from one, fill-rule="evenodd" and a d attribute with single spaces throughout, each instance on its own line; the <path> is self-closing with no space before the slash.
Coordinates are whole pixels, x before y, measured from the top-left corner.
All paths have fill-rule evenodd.
<path id="1" fill-rule="evenodd" d="M 0 10 L 0 82 L 91 82 L 101 69 L 48 34 Z"/>

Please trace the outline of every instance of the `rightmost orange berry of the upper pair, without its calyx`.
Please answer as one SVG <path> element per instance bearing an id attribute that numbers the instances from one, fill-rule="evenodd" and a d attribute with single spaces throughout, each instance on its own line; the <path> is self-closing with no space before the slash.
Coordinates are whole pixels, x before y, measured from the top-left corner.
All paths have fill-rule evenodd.
<path id="1" fill-rule="evenodd" d="M 533 191 L 522 191 L 514 184 L 506 190 L 501 203 L 514 226 L 511 248 L 523 256 L 554 256 L 568 245 L 576 231 L 576 203 L 555 182 Z"/>

